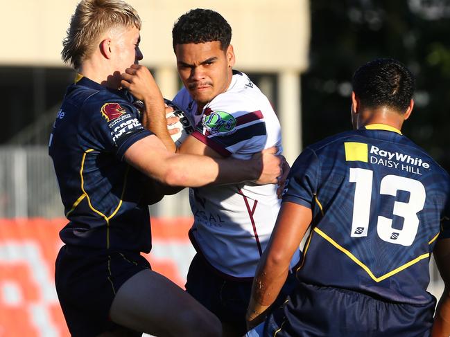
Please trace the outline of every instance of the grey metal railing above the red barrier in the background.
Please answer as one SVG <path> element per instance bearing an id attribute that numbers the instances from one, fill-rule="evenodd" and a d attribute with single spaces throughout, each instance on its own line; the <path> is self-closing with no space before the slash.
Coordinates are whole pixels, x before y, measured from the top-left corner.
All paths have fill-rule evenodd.
<path id="1" fill-rule="evenodd" d="M 190 216 L 188 190 L 150 206 L 155 217 Z M 64 217 L 58 182 L 48 148 L 0 147 L 0 218 Z"/>

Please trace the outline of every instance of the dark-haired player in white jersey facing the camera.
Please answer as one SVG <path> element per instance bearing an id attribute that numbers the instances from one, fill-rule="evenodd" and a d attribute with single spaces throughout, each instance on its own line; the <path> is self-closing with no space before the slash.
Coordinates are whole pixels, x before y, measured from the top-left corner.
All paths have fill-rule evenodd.
<path id="1" fill-rule="evenodd" d="M 191 10 L 173 27 L 184 84 L 173 102 L 196 125 L 181 153 L 250 158 L 274 145 L 281 152 L 275 111 L 247 75 L 232 69 L 230 40 L 230 25 L 212 10 Z M 225 336 L 242 336 L 252 277 L 280 207 L 277 185 L 207 186 L 191 189 L 189 197 L 197 255 L 187 291 L 220 318 Z M 299 259 L 297 253 L 292 268 Z"/>

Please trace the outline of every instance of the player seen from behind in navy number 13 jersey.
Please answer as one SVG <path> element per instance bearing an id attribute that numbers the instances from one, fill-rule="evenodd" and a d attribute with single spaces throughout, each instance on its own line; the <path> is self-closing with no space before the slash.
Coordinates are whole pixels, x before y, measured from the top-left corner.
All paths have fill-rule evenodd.
<path id="1" fill-rule="evenodd" d="M 399 62 L 361 67 L 352 96 L 357 129 L 295 161 L 266 268 L 286 224 L 302 228 L 291 238 L 301 239 L 309 224 L 310 233 L 297 289 L 268 318 L 264 336 L 430 336 L 429 259 L 449 245 L 450 178 L 399 130 L 413 109 L 412 88 Z M 435 253 L 445 275 L 448 264 Z M 270 291 L 263 271 L 257 280 Z M 250 311 L 259 311 L 264 295 L 253 295 Z"/>

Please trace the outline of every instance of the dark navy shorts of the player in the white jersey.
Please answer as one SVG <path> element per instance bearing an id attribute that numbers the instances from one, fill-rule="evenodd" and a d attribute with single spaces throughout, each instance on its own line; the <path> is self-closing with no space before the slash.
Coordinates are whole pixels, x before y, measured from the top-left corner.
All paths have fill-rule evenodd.
<path id="1" fill-rule="evenodd" d="M 186 290 L 204 307 L 214 313 L 222 322 L 231 325 L 243 336 L 247 330 L 245 313 L 247 312 L 253 279 L 233 279 L 220 274 L 210 266 L 204 257 L 193 257 L 187 274 Z M 290 273 L 288 282 L 280 292 L 275 306 L 280 306 L 286 295 L 295 287 L 297 280 Z"/>

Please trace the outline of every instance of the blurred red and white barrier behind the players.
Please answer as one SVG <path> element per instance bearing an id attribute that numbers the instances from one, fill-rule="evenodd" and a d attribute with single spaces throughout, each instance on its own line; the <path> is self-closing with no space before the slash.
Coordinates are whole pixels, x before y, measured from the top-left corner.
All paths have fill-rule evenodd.
<path id="1" fill-rule="evenodd" d="M 0 337 L 69 336 L 55 291 L 58 236 L 66 219 L 0 219 Z M 192 219 L 152 219 L 152 268 L 184 285 Z"/>

